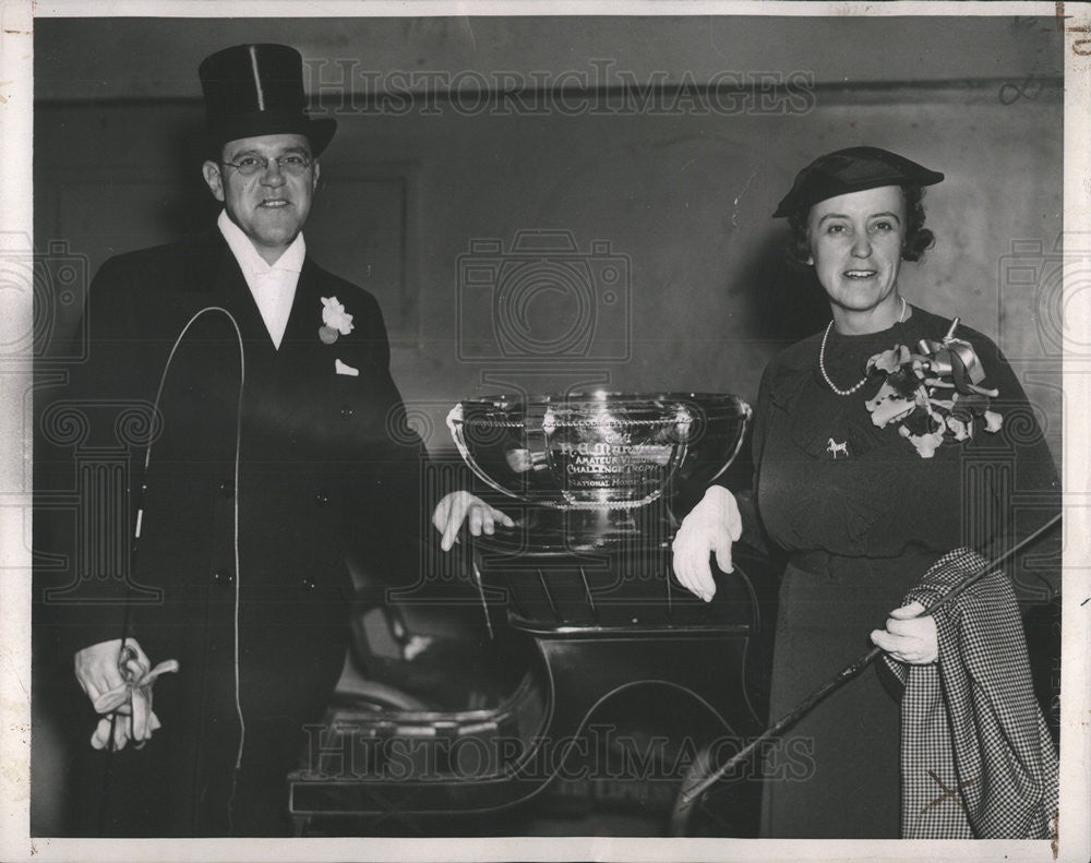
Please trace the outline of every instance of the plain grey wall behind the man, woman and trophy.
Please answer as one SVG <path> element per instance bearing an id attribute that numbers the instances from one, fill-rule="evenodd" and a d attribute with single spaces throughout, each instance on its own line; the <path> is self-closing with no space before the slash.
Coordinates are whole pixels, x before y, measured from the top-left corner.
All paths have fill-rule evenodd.
<path id="1" fill-rule="evenodd" d="M 203 119 L 196 65 L 248 40 L 297 46 L 314 108 L 338 119 L 309 251 L 380 298 L 395 377 L 431 428 L 431 448 L 449 446 L 443 417 L 473 394 L 604 385 L 755 398 L 776 350 L 828 320 L 810 274 L 783 263 L 786 228 L 770 215 L 815 156 L 872 144 L 947 175 L 925 199 L 936 247 L 903 267 L 904 295 L 998 339 L 1059 458 L 1050 320 L 1059 298 L 1040 278 L 1009 284 L 1005 268 L 1012 242 L 1050 251 L 1062 230 L 1063 44 L 1051 20 L 41 20 L 36 249 L 62 240 L 93 271 L 214 217 L 192 142 Z M 592 61 L 609 64 L 613 98 L 619 72 L 640 83 L 658 75 L 667 104 L 680 82 L 700 86 L 722 72 L 802 72 L 814 86 L 792 113 L 762 107 L 776 94 L 744 88 L 741 111 L 598 115 L 587 109 L 603 97 Z M 548 86 L 576 72 L 591 92 L 568 75 L 564 104 L 584 109 L 535 116 L 497 116 L 495 94 L 441 94 L 429 103 L 435 113 L 373 111 L 361 73 L 388 81 L 410 71 L 460 72 L 463 84 L 536 73 Z M 459 104 L 482 109 L 468 116 Z M 606 241 L 627 268 L 621 303 L 602 305 L 598 283 L 591 291 L 597 346 L 631 326 L 622 350 L 608 346 L 622 358 L 472 356 L 495 324 L 473 316 L 482 295 L 469 299 L 459 255 L 480 239 L 506 251 L 528 229 L 570 231 L 582 254 Z M 39 307 L 55 334 L 71 331 L 79 302 Z M 538 295 L 531 335 L 568 332 L 576 308 L 571 296 Z"/>

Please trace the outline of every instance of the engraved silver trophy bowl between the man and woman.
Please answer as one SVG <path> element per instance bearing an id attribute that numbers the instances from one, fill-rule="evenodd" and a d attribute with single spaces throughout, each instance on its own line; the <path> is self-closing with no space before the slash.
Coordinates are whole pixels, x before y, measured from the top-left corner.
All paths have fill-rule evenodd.
<path id="1" fill-rule="evenodd" d="M 459 401 L 447 427 L 490 488 L 558 511 L 632 511 L 673 484 L 707 484 L 751 418 L 738 396 L 575 393 Z"/>

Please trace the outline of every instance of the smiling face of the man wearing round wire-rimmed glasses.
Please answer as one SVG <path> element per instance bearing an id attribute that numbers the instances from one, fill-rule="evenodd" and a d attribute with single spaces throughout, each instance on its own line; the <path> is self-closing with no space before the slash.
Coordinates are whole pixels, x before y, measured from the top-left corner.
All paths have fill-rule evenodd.
<path id="1" fill-rule="evenodd" d="M 283 167 L 277 158 L 299 156 L 307 167 Z M 235 165 L 261 165 L 249 177 Z M 231 163 L 231 164 L 228 164 Z M 227 215 L 250 238 L 262 259 L 273 264 L 303 229 L 311 199 L 319 183 L 319 165 L 311 160 L 311 145 L 303 135 L 260 135 L 229 141 L 220 163 L 203 167 L 205 182 L 224 202 Z"/>

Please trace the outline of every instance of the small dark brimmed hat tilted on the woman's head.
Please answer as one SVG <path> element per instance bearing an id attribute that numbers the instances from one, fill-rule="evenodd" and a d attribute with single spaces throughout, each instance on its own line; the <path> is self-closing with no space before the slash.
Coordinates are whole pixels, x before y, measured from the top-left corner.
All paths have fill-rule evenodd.
<path id="1" fill-rule="evenodd" d="M 792 190 L 777 206 L 774 218 L 812 207 L 827 197 L 878 189 L 880 185 L 932 185 L 944 179 L 938 171 L 878 147 L 849 147 L 827 153 L 795 176 Z"/>

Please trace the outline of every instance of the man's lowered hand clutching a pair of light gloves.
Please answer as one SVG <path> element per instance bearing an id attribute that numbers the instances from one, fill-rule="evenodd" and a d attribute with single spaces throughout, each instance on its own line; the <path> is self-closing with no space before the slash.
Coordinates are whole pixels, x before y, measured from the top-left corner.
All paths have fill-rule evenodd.
<path id="1" fill-rule="evenodd" d="M 85 647 L 75 655 L 75 678 L 91 698 L 95 712 L 103 714 L 91 735 L 96 750 L 111 743 L 122 750 L 132 740 L 143 746 L 152 732 L 163 724 L 152 710 L 152 684 L 160 674 L 178 671 L 178 662 L 168 659 L 155 668 L 135 638 Z"/>

